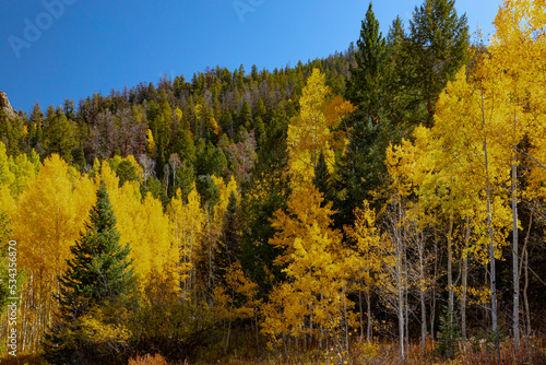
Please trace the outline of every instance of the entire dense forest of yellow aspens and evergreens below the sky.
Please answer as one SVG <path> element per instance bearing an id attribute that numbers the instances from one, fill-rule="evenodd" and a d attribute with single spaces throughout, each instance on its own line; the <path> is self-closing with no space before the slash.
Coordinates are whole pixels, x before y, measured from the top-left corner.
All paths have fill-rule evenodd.
<path id="1" fill-rule="evenodd" d="M 0 108 L 2 362 L 546 363 L 545 9 Z"/>

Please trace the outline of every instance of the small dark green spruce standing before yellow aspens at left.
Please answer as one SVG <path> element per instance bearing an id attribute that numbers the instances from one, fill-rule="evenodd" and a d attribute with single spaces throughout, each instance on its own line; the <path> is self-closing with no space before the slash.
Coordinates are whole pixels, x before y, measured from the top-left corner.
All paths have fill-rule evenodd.
<path id="1" fill-rule="evenodd" d="M 108 306 L 130 308 L 136 283 L 129 245 L 119 244 L 104 180 L 86 231 L 71 252 L 73 258 L 59 276 L 59 310 L 43 342 L 44 358 L 51 364 L 115 363 L 115 358 L 102 358 L 104 349 L 97 349 L 92 338 L 82 335 L 82 319 L 92 310 Z M 119 320 L 115 317 L 107 321 Z"/>

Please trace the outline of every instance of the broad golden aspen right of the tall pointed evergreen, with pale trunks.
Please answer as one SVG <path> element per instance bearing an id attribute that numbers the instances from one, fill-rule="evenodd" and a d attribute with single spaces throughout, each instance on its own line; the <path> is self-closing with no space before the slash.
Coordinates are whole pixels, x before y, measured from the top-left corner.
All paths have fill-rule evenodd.
<path id="1" fill-rule="evenodd" d="M 484 59 L 476 68 L 476 80 L 480 84 L 473 80 L 468 82 L 464 69 L 461 70 L 439 97 L 435 126 L 431 129 L 418 127 L 414 132 L 414 143 L 403 141 L 402 146 L 391 153 L 399 158 L 391 166 L 399 166 L 395 174 L 405 176 L 413 185 L 412 190 L 418 197 L 419 204 L 432 209 L 449 222 L 450 310 L 453 308 L 455 291 L 451 276 L 455 220 L 466 222 L 463 223 L 466 225 L 472 222 L 475 227 L 473 232 L 477 238 L 473 240 L 474 247 L 466 246 L 470 240 L 465 237 L 461 257 L 464 259 L 472 252 L 476 259 L 489 263 L 494 308 L 495 259 L 500 258 L 500 248 L 507 244 L 506 222 L 510 221 L 510 211 L 502 187 L 510 180 L 507 166 L 510 165 L 511 152 L 503 143 L 502 138 L 510 134 L 502 121 L 509 107 L 499 103 L 502 101 L 500 91 L 506 82 L 483 76 L 487 74 L 490 63 L 490 60 Z M 458 132 L 454 133 L 454 130 Z M 390 174 L 392 177 L 392 169 Z M 460 231 L 464 231 L 464 227 Z M 489 257 L 483 255 L 485 247 L 489 247 Z M 495 309 L 492 318 L 496 330 Z"/>

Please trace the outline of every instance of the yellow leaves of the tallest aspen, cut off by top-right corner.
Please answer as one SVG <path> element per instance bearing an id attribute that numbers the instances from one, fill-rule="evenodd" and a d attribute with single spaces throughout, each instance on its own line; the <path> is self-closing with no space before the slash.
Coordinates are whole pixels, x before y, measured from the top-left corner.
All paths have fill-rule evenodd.
<path id="1" fill-rule="evenodd" d="M 544 165 L 546 154 L 546 2 L 544 0 L 506 0 L 496 19 L 496 34 L 491 39 L 489 78 L 499 80 L 497 104 L 508 106 L 502 121 L 506 132 L 518 145 L 524 136 L 531 145 L 530 181 L 526 196 L 530 199 L 545 197 Z M 523 108 L 524 106 L 524 108 Z M 521 158 L 521 157 L 520 157 Z M 537 163 L 538 162 L 538 163 Z"/>

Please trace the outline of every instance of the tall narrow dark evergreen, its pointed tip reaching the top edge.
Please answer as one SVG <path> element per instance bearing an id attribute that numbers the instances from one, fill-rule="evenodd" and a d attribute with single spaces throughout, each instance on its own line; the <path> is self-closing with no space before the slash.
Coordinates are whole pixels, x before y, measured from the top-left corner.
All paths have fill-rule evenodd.
<path id="1" fill-rule="evenodd" d="M 353 212 L 363 200 L 372 200 L 369 191 L 381 184 L 387 173 L 384 150 L 389 141 L 389 128 L 383 120 L 385 39 L 379 32 L 371 2 L 363 21 L 360 38 L 355 54 L 356 68 L 351 69 L 346 84 L 346 98 L 358 109 L 346 123 L 348 130 L 346 153 L 337 162 L 337 191 L 344 191 L 344 199 L 336 201 L 336 226 L 353 222 Z"/>

